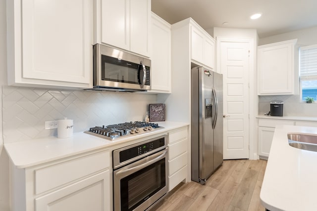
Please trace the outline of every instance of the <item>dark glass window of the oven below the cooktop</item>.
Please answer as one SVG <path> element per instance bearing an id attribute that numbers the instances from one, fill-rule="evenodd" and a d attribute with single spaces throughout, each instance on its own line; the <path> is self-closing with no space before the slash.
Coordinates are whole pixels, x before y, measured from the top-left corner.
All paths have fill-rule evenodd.
<path id="1" fill-rule="evenodd" d="M 121 210 L 133 210 L 165 187 L 165 158 L 120 181 Z"/>

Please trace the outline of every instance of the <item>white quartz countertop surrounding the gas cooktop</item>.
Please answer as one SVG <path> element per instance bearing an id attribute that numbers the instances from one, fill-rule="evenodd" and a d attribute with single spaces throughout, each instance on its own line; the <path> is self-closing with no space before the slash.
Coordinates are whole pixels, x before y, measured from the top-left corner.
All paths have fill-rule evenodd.
<path id="1" fill-rule="evenodd" d="M 127 143 L 139 138 L 166 133 L 172 129 L 188 126 L 187 123 L 157 122 L 164 127 L 148 133 L 120 138 L 114 141 L 106 140 L 84 132 L 76 132 L 70 138 L 57 138 L 55 136 L 4 144 L 4 148 L 16 168 L 28 168 L 57 159 L 77 155 L 92 150 L 111 147 Z"/>

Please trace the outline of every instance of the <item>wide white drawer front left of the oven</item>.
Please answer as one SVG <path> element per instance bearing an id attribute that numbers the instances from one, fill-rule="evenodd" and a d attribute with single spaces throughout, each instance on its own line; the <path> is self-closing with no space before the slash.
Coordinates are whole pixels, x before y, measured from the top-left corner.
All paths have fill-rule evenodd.
<path id="1" fill-rule="evenodd" d="M 60 185 L 109 167 L 109 152 L 103 151 L 35 170 L 35 193 L 43 193 Z"/>

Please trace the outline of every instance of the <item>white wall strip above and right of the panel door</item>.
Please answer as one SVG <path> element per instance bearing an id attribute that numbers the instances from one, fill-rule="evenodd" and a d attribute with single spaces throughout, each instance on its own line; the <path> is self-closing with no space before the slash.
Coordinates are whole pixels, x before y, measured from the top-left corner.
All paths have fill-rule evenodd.
<path id="1" fill-rule="evenodd" d="M 211 33 L 211 32 L 210 32 Z M 258 114 L 258 95 L 257 95 L 257 46 L 258 33 L 255 29 L 236 29 L 236 28 L 213 28 L 213 37 L 217 40 L 219 37 L 238 38 L 238 39 L 253 39 L 253 67 L 250 73 L 250 159 L 257 159 L 258 138 L 256 128 L 256 118 Z M 252 49 L 251 49 L 252 51 Z"/>

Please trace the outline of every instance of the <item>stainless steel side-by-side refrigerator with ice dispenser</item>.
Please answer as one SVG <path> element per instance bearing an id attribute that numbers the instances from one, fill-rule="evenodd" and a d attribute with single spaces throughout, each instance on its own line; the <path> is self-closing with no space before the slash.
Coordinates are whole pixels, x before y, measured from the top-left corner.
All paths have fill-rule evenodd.
<path id="1" fill-rule="evenodd" d="M 192 69 L 192 180 L 205 184 L 223 163 L 222 75 L 204 67 Z"/>

